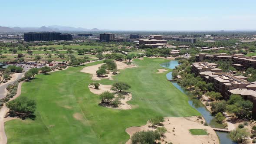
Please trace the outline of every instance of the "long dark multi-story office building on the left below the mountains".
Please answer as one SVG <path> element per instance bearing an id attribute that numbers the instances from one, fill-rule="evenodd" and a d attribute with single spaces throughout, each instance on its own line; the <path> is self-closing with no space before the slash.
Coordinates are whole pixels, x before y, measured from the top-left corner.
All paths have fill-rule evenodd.
<path id="1" fill-rule="evenodd" d="M 38 32 L 38 33 L 24 33 L 24 40 L 31 41 L 52 41 L 52 40 L 72 40 L 71 34 L 62 34 L 56 32 Z"/>

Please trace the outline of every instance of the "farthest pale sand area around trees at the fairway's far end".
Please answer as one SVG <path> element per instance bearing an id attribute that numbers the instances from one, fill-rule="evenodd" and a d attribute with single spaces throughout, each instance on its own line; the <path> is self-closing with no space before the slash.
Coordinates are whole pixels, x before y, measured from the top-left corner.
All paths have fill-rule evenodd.
<path id="1" fill-rule="evenodd" d="M 133 68 L 136 67 L 136 65 L 131 64 L 131 65 L 127 65 L 124 62 L 119 62 L 119 61 L 115 61 L 116 65 L 117 65 L 117 69 L 126 69 L 126 68 Z M 81 72 L 85 72 L 85 73 L 89 73 L 92 74 L 92 80 L 100 80 L 100 79 L 113 79 L 112 76 L 112 72 L 109 72 L 107 77 L 98 77 L 98 75 L 96 74 L 96 71 L 98 70 L 98 67 L 100 67 L 101 65 L 103 65 L 104 63 L 98 64 L 98 65 L 92 65 L 92 66 L 87 66 L 84 69 L 81 70 Z"/>

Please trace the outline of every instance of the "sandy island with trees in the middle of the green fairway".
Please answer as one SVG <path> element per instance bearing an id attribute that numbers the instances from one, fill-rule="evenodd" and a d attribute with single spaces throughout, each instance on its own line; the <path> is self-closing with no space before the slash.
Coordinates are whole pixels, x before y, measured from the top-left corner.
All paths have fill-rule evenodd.
<path id="1" fill-rule="evenodd" d="M 102 84 L 100 84 L 99 87 L 98 87 L 99 89 L 95 89 L 94 86 L 89 85 L 88 88 L 90 89 L 90 91 L 92 93 L 94 93 L 96 95 L 100 95 L 104 91 L 115 92 L 115 91 L 110 90 L 111 85 L 102 85 Z M 115 95 L 115 96 L 117 96 L 117 95 Z M 121 104 L 119 104 L 118 107 L 115 108 L 115 109 L 131 109 L 131 105 L 127 104 L 127 101 L 130 101 L 131 98 L 132 98 L 131 93 L 128 93 L 124 96 L 125 96 L 125 99 L 120 99 Z M 108 107 L 108 108 L 112 108 L 112 107 Z"/>

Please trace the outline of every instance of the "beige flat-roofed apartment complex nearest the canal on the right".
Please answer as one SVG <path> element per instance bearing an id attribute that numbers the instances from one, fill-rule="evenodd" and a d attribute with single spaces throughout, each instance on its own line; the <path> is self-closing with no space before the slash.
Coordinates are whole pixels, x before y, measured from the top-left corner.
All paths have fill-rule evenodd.
<path id="1" fill-rule="evenodd" d="M 207 83 L 213 83 L 215 92 L 220 92 L 225 100 L 230 95 L 238 94 L 244 99 L 253 102 L 253 118 L 256 118 L 256 82 L 248 82 L 242 75 L 234 76 L 226 72 L 221 72 L 217 64 L 209 62 L 195 62 L 191 71 L 196 76 L 200 75 Z"/>

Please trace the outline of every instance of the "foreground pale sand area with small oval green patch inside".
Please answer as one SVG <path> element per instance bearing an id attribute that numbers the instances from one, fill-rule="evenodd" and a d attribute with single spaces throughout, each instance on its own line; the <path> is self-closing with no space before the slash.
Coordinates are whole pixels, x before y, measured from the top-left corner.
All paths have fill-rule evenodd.
<path id="1" fill-rule="evenodd" d="M 199 119 L 199 121 L 197 121 L 197 117 L 194 116 L 186 118 L 169 117 L 164 118 L 164 120 L 165 121 L 163 124 L 167 129 L 167 132 L 164 134 L 165 137 L 161 138 L 161 140 L 164 139 L 164 141 L 172 142 L 173 144 L 220 144 L 217 134 L 213 128 L 210 126 L 204 126 L 200 123 L 200 121 L 203 119 Z M 151 124 L 147 122 L 147 124 L 144 126 L 130 127 L 125 131 L 131 136 L 137 131 L 156 130 L 153 128 L 148 128 L 149 125 Z M 203 129 L 206 130 L 209 135 L 192 135 L 189 132 L 190 129 Z M 161 143 L 163 144 L 162 141 Z M 131 144 L 131 139 L 129 139 L 126 144 Z"/>

